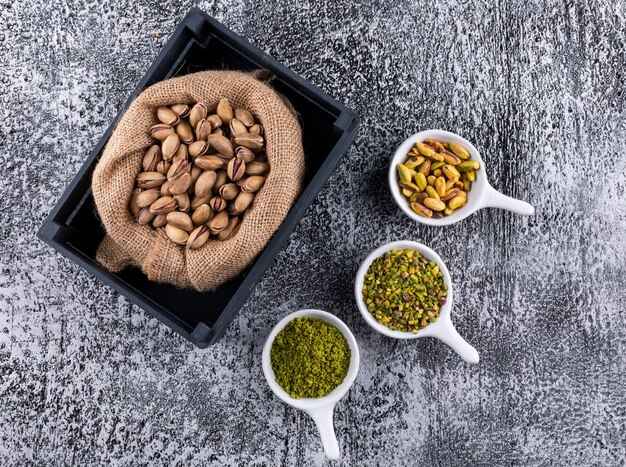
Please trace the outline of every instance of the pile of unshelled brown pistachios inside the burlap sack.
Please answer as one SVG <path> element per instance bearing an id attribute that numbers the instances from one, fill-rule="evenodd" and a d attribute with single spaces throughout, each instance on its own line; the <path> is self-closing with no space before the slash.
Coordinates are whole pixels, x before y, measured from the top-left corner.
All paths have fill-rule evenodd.
<path id="1" fill-rule="evenodd" d="M 137 222 L 165 228 L 191 249 L 235 235 L 270 169 L 252 113 L 227 99 L 214 110 L 201 102 L 157 109 L 150 135 L 158 143 L 146 151 L 130 199 Z"/>

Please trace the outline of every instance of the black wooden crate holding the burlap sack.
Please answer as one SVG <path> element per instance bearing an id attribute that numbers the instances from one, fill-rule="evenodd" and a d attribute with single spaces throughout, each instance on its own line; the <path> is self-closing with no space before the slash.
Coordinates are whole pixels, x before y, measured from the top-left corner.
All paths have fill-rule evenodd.
<path id="1" fill-rule="evenodd" d="M 213 292 L 200 293 L 149 281 L 137 268 L 112 274 L 95 261 L 104 236 L 92 193 L 91 176 L 116 122 L 146 87 L 201 70 L 271 70 L 271 86 L 289 99 L 303 130 L 304 189 L 265 250 L 242 274 Z M 38 236 L 65 257 L 110 285 L 198 347 L 216 342 L 252 288 L 285 245 L 354 140 L 358 115 L 227 29 L 192 8 L 152 63 L 39 229 Z"/>

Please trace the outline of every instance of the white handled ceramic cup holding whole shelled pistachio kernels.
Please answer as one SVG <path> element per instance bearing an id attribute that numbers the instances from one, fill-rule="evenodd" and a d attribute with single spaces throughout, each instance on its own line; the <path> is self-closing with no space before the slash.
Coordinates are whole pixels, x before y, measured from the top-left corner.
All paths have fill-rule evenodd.
<path id="1" fill-rule="evenodd" d="M 465 206 L 456 209 L 451 215 L 444 216 L 441 219 L 423 217 L 413 211 L 408 199 L 406 199 L 406 197 L 402 194 L 401 188 L 398 185 L 398 170 L 396 166 L 406 160 L 407 154 L 415 143 L 422 142 L 427 138 L 433 138 L 444 143 L 459 143 L 467 149 L 472 160 L 480 163 L 480 169 L 476 172 L 476 181 L 472 183 L 472 189 L 467 194 L 467 203 Z M 485 163 L 474 145 L 457 134 L 443 130 L 420 131 L 419 133 L 416 133 L 404 140 L 404 142 L 396 150 L 391 160 L 391 165 L 389 167 L 389 188 L 391 189 L 393 199 L 407 216 L 427 225 L 454 224 L 455 222 L 465 219 L 467 216 L 473 214 L 481 208 L 491 207 L 507 209 L 526 216 L 530 216 L 535 212 L 535 208 L 525 201 L 520 201 L 503 195 L 493 188 L 487 180 L 487 169 L 485 167 Z"/>

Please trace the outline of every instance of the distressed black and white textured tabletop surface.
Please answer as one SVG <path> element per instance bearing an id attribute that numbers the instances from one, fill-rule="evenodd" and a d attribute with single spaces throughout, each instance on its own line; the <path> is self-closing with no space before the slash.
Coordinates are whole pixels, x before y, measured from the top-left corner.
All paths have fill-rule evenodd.
<path id="1" fill-rule="evenodd" d="M 626 9 L 583 3 L 200 2 L 362 127 L 225 337 L 198 350 L 35 238 L 195 3 L 0 0 L 0 463 L 322 464 L 311 420 L 260 369 L 277 320 L 319 307 L 362 350 L 335 415 L 345 465 L 623 465 Z M 387 161 L 425 128 L 474 141 L 536 215 L 404 217 Z M 479 365 L 361 319 L 358 263 L 402 238 L 447 262 Z"/>

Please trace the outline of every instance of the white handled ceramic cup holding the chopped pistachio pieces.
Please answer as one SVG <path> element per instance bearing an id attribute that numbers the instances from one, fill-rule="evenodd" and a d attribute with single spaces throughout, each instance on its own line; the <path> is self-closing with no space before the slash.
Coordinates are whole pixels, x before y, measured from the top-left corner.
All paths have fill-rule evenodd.
<path id="1" fill-rule="evenodd" d="M 379 256 L 384 255 L 390 250 L 396 249 L 406 249 L 410 248 L 412 250 L 420 252 L 429 260 L 434 261 L 439 266 L 439 269 L 443 272 L 443 278 L 448 285 L 448 294 L 446 298 L 446 303 L 441 307 L 439 312 L 439 317 L 434 323 L 430 323 L 426 327 L 417 331 L 417 333 L 412 332 L 404 332 L 397 331 L 393 329 L 389 329 L 387 326 L 378 322 L 376 317 L 374 317 L 369 310 L 367 309 L 367 305 L 363 301 L 363 281 L 365 280 L 365 274 L 369 269 L 372 262 L 378 258 Z M 361 263 L 361 267 L 356 274 L 356 280 L 354 282 L 354 293 L 356 296 L 356 303 L 359 307 L 359 311 L 367 324 L 369 324 L 374 330 L 384 334 L 385 336 L 393 337 L 395 339 L 419 339 L 422 337 L 436 337 L 440 341 L 448 344 L 452 349 L 459 354 L 459 356 L 465 360 L 467 363 L 478 363 L 479 356 L 478 352 L 474 347 L 469 345 L 465 339 L 461 337 L 461 335 L 457 332 L 452 324 L 452 319 L 450 318 L 450 311 L 452 310 L 452 281 L 450 280 L 450 273 L 448 272 L 448 268 L 441 260 L 439 255 L 435 253 L 433 250 L 428 248 L 425 245 L 422 245 L 418 242 L 411 242 L 408 240 L 402 240 L 398 242 L 387 243 L 386 245 L 381 246 L 380 248 L 376 248 L 372 253 L 365 258 L 363 263 Z"/>

